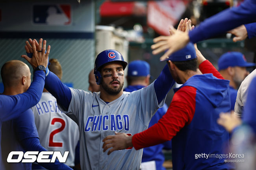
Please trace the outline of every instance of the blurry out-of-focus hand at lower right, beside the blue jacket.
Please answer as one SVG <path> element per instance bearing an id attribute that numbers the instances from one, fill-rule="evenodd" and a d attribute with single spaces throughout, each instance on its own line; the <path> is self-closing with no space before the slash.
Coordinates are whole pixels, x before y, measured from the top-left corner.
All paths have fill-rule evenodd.
<path id="1" fill-rule="evenodd" d="M 223 126 L 228 132 L 232 132 L 236 126 L 239 126 L 242 121 L 237 115 L 234 114 L 234 111 L 231 113 L 220 113 L 217 123 Z"/>

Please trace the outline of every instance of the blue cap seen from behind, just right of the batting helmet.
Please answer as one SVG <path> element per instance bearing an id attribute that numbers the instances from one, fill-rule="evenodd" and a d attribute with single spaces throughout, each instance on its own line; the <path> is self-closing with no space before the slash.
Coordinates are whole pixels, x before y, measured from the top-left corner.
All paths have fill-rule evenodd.
<path id="1" fill-rule="evenodd" d="M 142 60 L 134 60 L 128 64 L 128 76 L 150 75 L 150 66 Z"/>

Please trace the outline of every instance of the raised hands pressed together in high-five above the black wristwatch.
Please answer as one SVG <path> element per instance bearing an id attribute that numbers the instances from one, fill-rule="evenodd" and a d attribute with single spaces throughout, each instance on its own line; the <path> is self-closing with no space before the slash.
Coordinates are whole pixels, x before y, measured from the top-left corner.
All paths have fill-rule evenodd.
<path id="1" fill-rule="evenodd" d="M 37 66 L 39 65 L 43 65 L 45 66 L 45 68 L 48 65 L 48 55 L 50 53 L 50 46 L 48 46 L 47 51 L 45 53 L 46 50 L 46 40 L 43 41 L 42 38 L 40 38 L 39 40 L 39 44 L 37 43 L 36 40 L 31 40 L 29 39 L 30 44 L 32 44 L 32 47 L 30 46 L 30 44 L 28 43 L 28 41 L 26 41 L 26 52 L 27 53 L 33 53 L 32 58 L 28 57 L 27 55 L 22 55 L 22 58 L 25 58 L 33 67 L 33 69 L 37 68 Z M 38 45 L 37 45 L 38 44 Z M 43 44 L 43 47 L 42 47 Z M 41 49 L 41 50 L 38 50 Z"/>

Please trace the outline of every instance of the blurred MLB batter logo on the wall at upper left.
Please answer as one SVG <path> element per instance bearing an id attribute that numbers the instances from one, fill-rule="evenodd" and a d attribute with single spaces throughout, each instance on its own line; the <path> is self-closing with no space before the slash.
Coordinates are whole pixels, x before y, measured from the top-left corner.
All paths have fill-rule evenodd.
<path id="1" fill-rule="evenodd" d="M 71 24 L 71 6 L 67 4 L 33 5 L 33 23 L 56 26 Z"/>

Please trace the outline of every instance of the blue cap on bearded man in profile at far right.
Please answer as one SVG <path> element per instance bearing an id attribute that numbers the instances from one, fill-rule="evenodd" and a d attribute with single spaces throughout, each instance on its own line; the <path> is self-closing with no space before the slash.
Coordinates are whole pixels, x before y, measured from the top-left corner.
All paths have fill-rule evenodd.
<path id="1" fill-rule="evenodd" d="M 228 52 L 224 53 L 218 60 L 219 70 L 226 69 L 228 67 L 251 67 L 255 66 L 255 63 L 247 62 L 245 56 L 240 52 Z"/>

